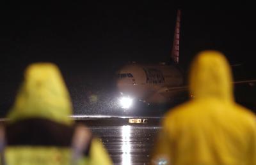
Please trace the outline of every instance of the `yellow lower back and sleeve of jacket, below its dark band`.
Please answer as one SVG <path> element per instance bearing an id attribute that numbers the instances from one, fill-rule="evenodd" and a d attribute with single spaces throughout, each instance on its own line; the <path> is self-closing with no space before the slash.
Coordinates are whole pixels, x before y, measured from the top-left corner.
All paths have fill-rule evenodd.
<path id="1" fill-rule="evenodd" d="M 93 139 L 90 153 L 87 157 L 75 160 L 77 165 L 111 165 L 108 153 L 102 143 Z M 74 165 L 72 150 L 70 147 L 31 147 L 17 146 L 7 147 L 4 151 L 4 159 L 7 165 Z"/>

